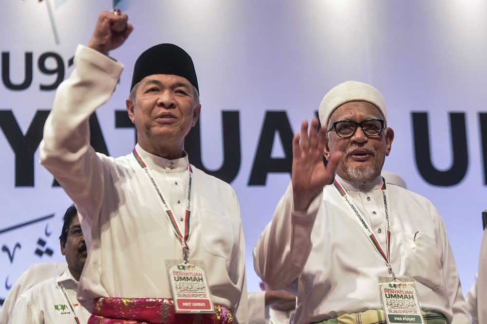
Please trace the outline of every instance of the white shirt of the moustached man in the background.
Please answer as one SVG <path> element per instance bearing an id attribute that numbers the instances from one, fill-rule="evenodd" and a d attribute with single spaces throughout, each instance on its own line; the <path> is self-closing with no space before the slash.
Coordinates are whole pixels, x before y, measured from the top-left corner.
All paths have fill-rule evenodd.
<path id="1" fill-rule="evenodd" d="M 69 296 L 69 303 L 57 285 L 59 281 Z M 77 287 L 78 282 L 69 270 L 32 286 L 17 298 L 8 323 L 72 324 L 75 323 L 75 316 L 79 323 L 87 323 L 91 314 L 76 300 Z M 71 311 L 70 303 L 75 309 L 75 314 Z"/>

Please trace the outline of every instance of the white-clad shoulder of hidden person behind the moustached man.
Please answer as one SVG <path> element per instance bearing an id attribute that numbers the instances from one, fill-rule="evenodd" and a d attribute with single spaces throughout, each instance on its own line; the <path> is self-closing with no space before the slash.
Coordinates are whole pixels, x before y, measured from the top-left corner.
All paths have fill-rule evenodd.
<path id="1" fill-rule="evenodd" d="M 8 292 L 0 308 L 0 323 L 8 323 L 17 298 L 27 289 L 46 279 L 57 277 L 68 269 L 66 262 L 35 263 L 25 270 Z"/>

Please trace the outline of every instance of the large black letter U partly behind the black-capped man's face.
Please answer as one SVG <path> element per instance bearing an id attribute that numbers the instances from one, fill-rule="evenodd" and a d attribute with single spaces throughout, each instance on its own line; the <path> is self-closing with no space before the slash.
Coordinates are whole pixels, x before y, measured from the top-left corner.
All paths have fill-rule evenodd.
<path id="1" fill-rule="evenodd" d="M 201 119 L 201 118 L 200 118 Z M 240 117 L 238 111 L 222 111 L 223 125 L 223 164 L 218 170 L 208 170 L 201 159 L 200 121 L 187 134 L 184 147 L 189 162 L 207 174 L 230 183 L 237 177 L 240 169 Z"/>

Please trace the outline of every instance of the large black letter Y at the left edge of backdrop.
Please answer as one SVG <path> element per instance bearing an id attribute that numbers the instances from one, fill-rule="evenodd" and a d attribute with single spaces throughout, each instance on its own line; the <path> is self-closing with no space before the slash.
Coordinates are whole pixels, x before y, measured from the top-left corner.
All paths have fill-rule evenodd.
<path id="1" fill-rule="evenodd" d="M 0 110 L 0 128 L 15 153 L 15 186 L 34 186 L 34 153 L 36 153 L 42 129 L 46 122 L 49 110 L 37 110 L 25 136 L 12 110 Z"/>

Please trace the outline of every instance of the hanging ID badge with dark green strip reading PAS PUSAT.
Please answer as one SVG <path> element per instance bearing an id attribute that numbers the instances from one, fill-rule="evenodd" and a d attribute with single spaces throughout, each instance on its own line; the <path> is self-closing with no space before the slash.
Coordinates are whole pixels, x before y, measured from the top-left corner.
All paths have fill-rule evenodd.
<path id="1" fill-rule="evenodd" d="M 424 324 L 413 278 L 379 277 L 379 291 L 388 324 Z"/>

